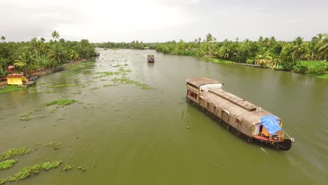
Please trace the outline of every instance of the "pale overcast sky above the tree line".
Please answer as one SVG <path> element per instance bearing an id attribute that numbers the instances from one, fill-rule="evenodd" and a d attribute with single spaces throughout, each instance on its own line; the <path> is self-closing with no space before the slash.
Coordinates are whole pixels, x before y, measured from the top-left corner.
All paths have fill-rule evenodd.
<path id="1" fill-rule="evenodd" d="M 290 41 L 328 33 L 328 0 L 0 0 L 0 36 L 6 41 L 67 40 Z"/>

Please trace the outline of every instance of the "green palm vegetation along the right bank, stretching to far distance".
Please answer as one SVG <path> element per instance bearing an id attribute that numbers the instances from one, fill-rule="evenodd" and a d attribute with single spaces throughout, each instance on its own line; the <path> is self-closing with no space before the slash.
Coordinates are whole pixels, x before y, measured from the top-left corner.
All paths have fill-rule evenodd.
<path id="1" fill-rule="evenodd" d="M 300 36 L 294 41 L 277 41 L 260 36 L 258 41 L 217 41 L 212 34 L 205 39 L 165 43 L 96 43 L 99 48 L 154 49 L 164 54 L 205 57 L 214 63 L 244 64 L 328 78 L 328 34 L 317 34 L 311 41 Z"/>

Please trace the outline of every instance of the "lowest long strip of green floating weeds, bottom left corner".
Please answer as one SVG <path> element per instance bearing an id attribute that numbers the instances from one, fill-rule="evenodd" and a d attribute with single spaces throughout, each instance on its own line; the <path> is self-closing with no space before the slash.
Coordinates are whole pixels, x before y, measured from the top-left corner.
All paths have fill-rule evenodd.
<path id="1" fill-rule="evenodd" d="M 33 165 L 30 167 L 24 167 L 20 172 L 14 174 L 10 177 L 4 178 L 0 180 L 0 184 L 5 184 L 8 181 L 19 181 L 25 179 L 31 174 L 37 174 L 40 170 L 50 170 L 51 168 L 58 167 L 62 163 L 62 160 L 57 160 L 53 162 L 46 162 L 41 165 Z"/>

